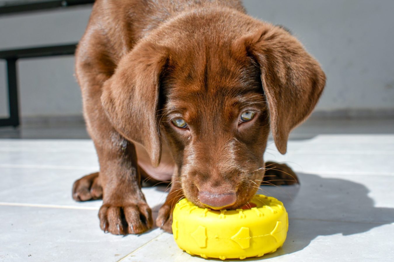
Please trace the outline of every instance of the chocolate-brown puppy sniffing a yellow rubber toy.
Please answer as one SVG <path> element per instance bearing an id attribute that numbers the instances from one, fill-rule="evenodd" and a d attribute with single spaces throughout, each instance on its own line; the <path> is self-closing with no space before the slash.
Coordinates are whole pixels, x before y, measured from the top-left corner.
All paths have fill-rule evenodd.
<path id="1" fill-rule="evenodd" d="M 73 197 L 102 197 L 100 227 L 112 234 L 152 227 L 141 175 L 172 181 L 156 220 L 165 231 L 184 196 L 212 209 L 247 203 L 270 128 L 284 154 L 325 85 L 296 38 L 238 0 L 97 0 L 76 73 L 100 172 L 77 180 Z M 297 181 L 268 165 L 269 180 Z"/>

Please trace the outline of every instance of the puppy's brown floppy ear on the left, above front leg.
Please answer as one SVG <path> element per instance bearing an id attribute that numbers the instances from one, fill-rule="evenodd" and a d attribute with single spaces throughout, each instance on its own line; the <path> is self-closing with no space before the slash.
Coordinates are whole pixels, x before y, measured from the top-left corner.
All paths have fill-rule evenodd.
<path id="1" fill-rule="evenodd" d="M 140 43 L 119 61 L 101 95 L 114 128 L 126 139 L 143 145 L 154 166 L 161 156 L 157 111 L 159 78 L 167 57 L 166 48 Z"/>

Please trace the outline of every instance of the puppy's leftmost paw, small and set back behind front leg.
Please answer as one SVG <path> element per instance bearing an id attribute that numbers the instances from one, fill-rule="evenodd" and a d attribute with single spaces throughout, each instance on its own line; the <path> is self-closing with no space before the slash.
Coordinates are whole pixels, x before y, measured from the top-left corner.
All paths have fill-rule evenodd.
<path id="1" fill-rule="evenodd" d="M 96 200 L 102 198 L 102 187 L 99 183 L 99 172 L 86 175 L 74 182 L 72 198 L 75 201 Z"/>

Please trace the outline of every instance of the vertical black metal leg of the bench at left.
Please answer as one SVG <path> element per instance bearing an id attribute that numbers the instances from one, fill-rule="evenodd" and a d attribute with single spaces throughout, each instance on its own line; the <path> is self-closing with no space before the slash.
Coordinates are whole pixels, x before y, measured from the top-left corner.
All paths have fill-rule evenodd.
<path id="1" fill-rule="evenodd" d="M 9 125 L 19 126 L 17 59 L 7 59 Z"/>

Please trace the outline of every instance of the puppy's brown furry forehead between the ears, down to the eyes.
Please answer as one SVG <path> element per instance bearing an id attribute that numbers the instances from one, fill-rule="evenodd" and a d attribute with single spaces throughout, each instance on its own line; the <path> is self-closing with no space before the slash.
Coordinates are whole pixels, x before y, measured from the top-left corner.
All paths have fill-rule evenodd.
<path id="1" fill-rule="evenodd" d="M 163 93 L 167 110 L 190 119 L 214 112 L 230 118 L 248 97 L 263 99 L 259 68 L 246 54 L 236 56 L 217 45 L 173 56 Z"/>

